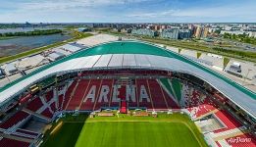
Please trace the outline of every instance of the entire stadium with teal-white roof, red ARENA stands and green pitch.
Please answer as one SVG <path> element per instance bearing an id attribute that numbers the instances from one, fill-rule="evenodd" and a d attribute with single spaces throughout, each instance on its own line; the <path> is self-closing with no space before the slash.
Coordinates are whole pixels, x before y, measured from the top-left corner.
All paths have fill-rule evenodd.
<path id="1" fill-rule="evenodd" d="M 256 146 L 256 93 L 148 42 L 83 49 L 0 89 L 0 146 Z"/>

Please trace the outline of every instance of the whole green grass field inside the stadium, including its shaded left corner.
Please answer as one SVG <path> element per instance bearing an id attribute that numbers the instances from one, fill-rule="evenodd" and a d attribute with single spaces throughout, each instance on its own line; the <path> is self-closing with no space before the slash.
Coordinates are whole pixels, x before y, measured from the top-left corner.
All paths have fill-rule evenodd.
<path id="1" fill-rule="evenodd" d="M 196 126 L 184 115 L 150 117 L 71 118 L 42 146 L 62 147 L 197 147 L 207 146 Z"/>

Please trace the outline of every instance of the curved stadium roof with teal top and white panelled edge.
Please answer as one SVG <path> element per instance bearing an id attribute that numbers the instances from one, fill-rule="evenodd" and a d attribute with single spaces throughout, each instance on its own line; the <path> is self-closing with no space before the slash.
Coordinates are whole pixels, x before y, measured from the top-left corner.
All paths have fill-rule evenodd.
<path id="1" fill-rule="evenodd" d="M 229 78 L 159 46 L 139 41 L 116 41 L 83 49 L 0 88 L 0 106 L 43 78 L 57 73 L 98 69 L 158 69 L 193 74 L 222 92 L 256 118 L 256 93 Z"/>

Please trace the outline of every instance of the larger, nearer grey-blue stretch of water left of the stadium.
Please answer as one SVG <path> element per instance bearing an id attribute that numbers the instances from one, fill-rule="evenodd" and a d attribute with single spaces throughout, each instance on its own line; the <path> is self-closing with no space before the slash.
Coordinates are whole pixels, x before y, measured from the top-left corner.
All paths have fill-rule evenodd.
<path id="1" fill-rule="evenodd" d="M 19 54 L 33 48 L 67 40 L 71 37 L 70 35 L 51 34 L 0 40 L 0 57 Z"/>

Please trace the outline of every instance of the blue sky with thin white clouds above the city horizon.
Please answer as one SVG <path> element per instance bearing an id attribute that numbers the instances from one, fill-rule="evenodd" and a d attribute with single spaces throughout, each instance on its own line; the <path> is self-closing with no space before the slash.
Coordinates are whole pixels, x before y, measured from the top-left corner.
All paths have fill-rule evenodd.
<path id="1" fill-rule="evenodd" d="M 256 23 L 256 0 L 0 0 L 0 23 Z"/>

